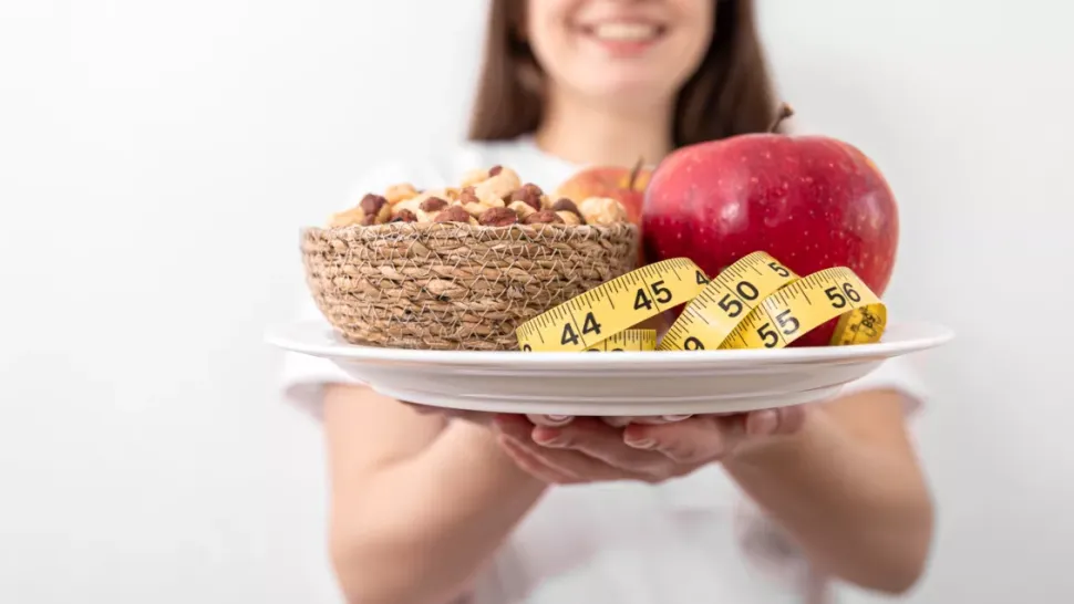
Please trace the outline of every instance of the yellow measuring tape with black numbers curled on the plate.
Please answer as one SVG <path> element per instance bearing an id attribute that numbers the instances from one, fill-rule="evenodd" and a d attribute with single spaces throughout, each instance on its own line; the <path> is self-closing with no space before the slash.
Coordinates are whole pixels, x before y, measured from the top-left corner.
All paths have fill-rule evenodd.
<path id="1" fill-rule="evenodd" d="M 685 304 L 657 343 L 634 325 Z M 846 268 L 799 278 L 763 251 L 710 279 L 674 258 L 633 270 L 523 323 L 527 352 L 782 348 L 838 317 L 832 345 L 878 342 L 887 308 Z"/>

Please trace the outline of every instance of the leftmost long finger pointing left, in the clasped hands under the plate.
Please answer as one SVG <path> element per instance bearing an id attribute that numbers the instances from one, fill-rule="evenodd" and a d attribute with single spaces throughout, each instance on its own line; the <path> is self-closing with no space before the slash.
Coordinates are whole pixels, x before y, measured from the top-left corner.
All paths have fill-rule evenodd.
<path id="1" fill-rule="evenodd" d="M 670 473 L 671 464 L 660 455 L 628 447 L 620 430 L 599 420 L 580 418 L 569 426 L 533 430 L 534 441 L 546 449 L 566 449 L 584 454 L 607 466 L 644 477 Z"/>

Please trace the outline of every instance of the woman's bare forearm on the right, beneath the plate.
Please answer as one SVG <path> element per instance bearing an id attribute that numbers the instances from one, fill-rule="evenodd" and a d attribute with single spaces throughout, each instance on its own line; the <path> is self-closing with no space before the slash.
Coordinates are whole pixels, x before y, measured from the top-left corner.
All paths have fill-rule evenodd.
<path id="1" fill-rule="evenodd" d="M 903 428 L 900 395 L 854 394 L 793 435 L 743 446 L 727 472 L 819 569 L 890 593 L 920 576 L 932 503 Z"/>

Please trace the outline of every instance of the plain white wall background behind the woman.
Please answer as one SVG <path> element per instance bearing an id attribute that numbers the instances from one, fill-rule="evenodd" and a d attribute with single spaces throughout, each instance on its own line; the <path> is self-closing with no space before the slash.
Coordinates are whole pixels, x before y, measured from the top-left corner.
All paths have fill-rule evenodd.
<path id="1" fill-rule="evenodd" d="M 910 601 L 1071 601 L 1074 10 L 761 3 L 802 123 L 900 200 L 887 298 L 959 333 L 919 358 L 940 525 Z M 301 223 L 462 134 L 483 6 L 0 4 L 0 602 L 338 602 L 320 435 L 260 334 Z"/>

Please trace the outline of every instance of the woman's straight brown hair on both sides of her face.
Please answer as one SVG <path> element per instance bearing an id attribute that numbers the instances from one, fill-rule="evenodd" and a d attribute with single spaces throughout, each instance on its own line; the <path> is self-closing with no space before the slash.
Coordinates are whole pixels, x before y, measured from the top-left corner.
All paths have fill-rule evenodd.
<path id="1" fill-rule="evenodd" d="M 764 132 L 776 116 L 753 0 L 713 0 L 712 43 L 675 101 L 675 147 Z M 521 31 L 525 2 L 493 0 L 471 140 L 531 134 L 544 111 L 540 67 Z"/>

